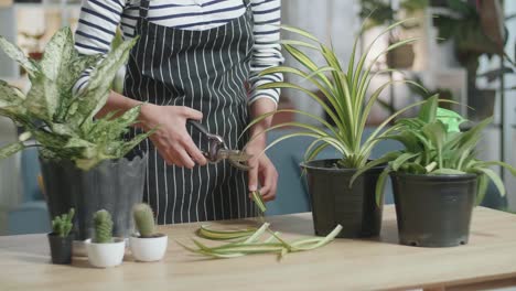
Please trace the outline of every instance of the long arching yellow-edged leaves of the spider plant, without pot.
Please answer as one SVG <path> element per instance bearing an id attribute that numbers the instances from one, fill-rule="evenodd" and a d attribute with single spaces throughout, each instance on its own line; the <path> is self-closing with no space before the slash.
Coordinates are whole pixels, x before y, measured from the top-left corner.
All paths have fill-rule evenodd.
<path id="1" fill-rule="evenodd" d="M 363 54 L 357 52 L 357 44 L 359 40 L 359 36 L 357 35 L 354 40 L 351 58 L 347 60 L 346 69 L 344 68 L 344 65 L 341 63 L 341 61 L 337 60 L 337 56 L 331 46 L 323 44 L 314 35 L 307 31 L 292 26 L 282 26 L 283 30 L 295 33 L 302 37 L 302 40 L 284 40 L 282 41 L 282 46 L 303 66 L 303 69 L 298 69 L 290 66 L 277 66 L 265 69 L 261 75 L 283 73 L 300 76 L 305 82 L 314 85 L 323 96 L 318 96 L 310 89 L 289 82 L 272 82 L 261 85 L 259 88 L 291 88 L 304 93 L 308 97 L 315 100 L 324 109 L 335 127 L 318 116 L 295 109 L 281 109 L 262 115 L 251 121 L 249 127 L 264 120 L 267 117 L 279 112 L 294 112 L 308 116 L 309 118 L 312 118 L 316 122 L 321 123 L 322 128 L 294 121 L 270 127 L 265 130 L 265 132 L 281 127 L 294 127 L 301 131 L 286 134 L 275 140 L 268 146 L 268 148 L 273 147 L 278 142 L 289 138 L 301 136 L 311 137 L 314 138 L 314 141 L 307 148 L 304 157 L 307 161 L 313 160 L 326 147 L 333 147 L 342 154 L 342 159 L 338 162 L 340 166 L 350 169 L 359 169 L 364 166 L 369 159 L 373 148 L 380 140 L 379 138 L 389 134 L 389 132 L 396 129 L 386 129 L 390 121 L 406 110 L 418 105 L 410 105 L 391 115 L 381 125 L 379 125 L 367 139 L 364 139 L 363 136 L 367 119 L 372 112 L 373 106 L 378 101 L 378 98 L 384 89 L 396 82 L 407 83 L 421 87 L 411 80 L 389 80 L 379 86 L 372 94 L 369 93 L 372 79 L 383 73 L 395 71 L 384 69 L 380 72 L 373 72 L 373 66 L 380 58 L 380 56 L 399 46 L 416 42 L 417 37 L 410 37 L 390 44 L 379 54 L 373 56 L 372 62 L 367 64 L 373 46 L 383 35 L 387 34 L 389 31 L 404 24 L 407 21 L 409 20 L 398 21 L 386 28 L 365 48 Z M 316 51 L 323 56 L 325 63 L 323 65 L 315 64 L 302 51 L 303 48 Z"/>

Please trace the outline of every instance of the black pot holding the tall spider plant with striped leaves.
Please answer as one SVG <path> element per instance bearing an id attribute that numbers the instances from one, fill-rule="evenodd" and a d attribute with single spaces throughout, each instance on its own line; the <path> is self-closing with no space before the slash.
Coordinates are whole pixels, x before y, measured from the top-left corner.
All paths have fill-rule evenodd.
<path id="1" fill-rule="evenodd" d="M 383 206 L 375 202 L 375 187 L 383 166 L 358 176 L 348 187 L 355 169 L 334 166 L 338 160 L 318 160 L 301 164 L 307 170 L 315 235 L 326 236 L 336 225 L 338 237 L 374 237 L 381 228 Z"/>

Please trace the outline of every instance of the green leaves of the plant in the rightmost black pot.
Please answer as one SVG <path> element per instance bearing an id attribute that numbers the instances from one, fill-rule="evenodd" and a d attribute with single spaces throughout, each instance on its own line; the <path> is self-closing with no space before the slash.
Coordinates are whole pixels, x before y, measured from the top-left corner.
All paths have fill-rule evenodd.
<path id="1" fill-rule="evenodd" d="M 438 103 L 438 97 L 433 96 L 421 106 L 418 117 L 397 120 L 396 130 L 380 139 L 397 140 L 405 149 L 389 152 L 368 163 L 353 176 L 352 183 L 365 171 L 387 163 L 376 185 L 378 204 L 385 180 L 390 172 L 428 175 L 477 174 L 477 203 L 482 202 L 490 180 L 494 182 L 501 195 L 505 195 L 504 183 L 490 166 L 503 166 L 513 175 L 516 175 L 516 169 L 501 161 L 485 162 L 476 158 L 476 144 L 482 138 L 482 131 L 493 118 L 461 132 L 459 125 L 465 119 L 454 111 L 439 108 Z"/>

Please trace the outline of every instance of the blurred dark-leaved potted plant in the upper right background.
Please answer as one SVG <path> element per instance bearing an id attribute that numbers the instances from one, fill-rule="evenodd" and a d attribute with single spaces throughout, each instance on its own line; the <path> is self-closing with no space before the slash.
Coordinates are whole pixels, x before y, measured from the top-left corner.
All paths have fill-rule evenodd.
<path id="1" fill-rule="evenodd" d="M 469 103 L 474 110 L 470 119 L 482 120 L 493 115 L 496 90 L 476 86 L 480 58 L 498 55 L 512 62 L 504 52 L 507 33 L 498 0 L 447 0 L 445 10 L 433 19 L 439 42 L 453 42 L 454 55 L 467 73 Z"/>

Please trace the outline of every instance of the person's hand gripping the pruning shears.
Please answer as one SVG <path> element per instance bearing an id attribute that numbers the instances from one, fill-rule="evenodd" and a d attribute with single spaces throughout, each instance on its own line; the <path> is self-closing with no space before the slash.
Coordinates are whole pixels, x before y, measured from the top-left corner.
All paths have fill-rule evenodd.
<path id="1" fill-rule="evenodd" d="M 186 120 L 201 120 L 203 114 L 184 106 L 158 106 L 144 104 L 140 111 L 140 127 L 157 131 L 150 140 L 168 164 L 192 169 L 195 163 L 206 164 L 206 158 L 198 150 L 186 131 Z"/>

